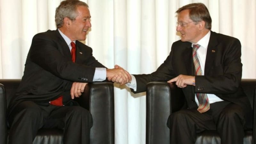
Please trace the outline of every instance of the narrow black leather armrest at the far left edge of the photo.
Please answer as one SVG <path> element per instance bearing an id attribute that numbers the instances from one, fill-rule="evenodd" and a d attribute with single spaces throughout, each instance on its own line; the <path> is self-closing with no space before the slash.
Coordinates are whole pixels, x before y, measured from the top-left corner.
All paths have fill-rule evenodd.
<path id="1" fill-rule="evenodd" d="M 0 143 L 7 143 L 6 97 L 4 85 L 0 83 Z"/>

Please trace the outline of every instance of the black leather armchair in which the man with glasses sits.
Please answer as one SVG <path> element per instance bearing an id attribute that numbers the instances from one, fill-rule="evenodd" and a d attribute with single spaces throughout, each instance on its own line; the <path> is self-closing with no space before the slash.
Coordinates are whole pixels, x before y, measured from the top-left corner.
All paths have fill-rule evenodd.
<path id="1" fill-rule="evenodd" d="M 242 88 L 249 98 L 254 120 L 253 130 L 246 130 L 244 144 L 252 144 L 256 139 L 256 79 L 242 79 Z M 178 111 L 184 104 L 184 94 L 175 84 L 166 82 L 151 82 L 147 84 L 147 113 L 146 113 L 146 143 L 170 144 L 170 129 L 167 119 L 172 112 Z M 197 134 L 196 144 L 220 144 L 216 131 L 204 131 Z"/>

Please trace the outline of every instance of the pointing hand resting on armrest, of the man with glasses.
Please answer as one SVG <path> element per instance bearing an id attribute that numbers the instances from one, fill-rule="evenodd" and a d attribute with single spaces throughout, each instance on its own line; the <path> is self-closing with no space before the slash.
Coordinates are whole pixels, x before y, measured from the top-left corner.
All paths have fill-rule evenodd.
<path id="1" fill-rule="evenodd" d="M 174 77 L 173 79 L 167 81 L 168 83 L 176 82 L 175 84 L 179 88 L 185 88 L 187 85 L 192 85 L 195 76 L 188 76 L 188 75 L 179 75 Z"/>

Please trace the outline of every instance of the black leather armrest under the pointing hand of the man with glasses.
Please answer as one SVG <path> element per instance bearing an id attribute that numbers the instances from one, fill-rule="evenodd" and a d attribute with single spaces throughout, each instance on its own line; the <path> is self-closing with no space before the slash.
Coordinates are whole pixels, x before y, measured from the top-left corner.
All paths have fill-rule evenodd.
<path id="1" fill-rule="evenodd" d="M 184 105 L 183 92 L 173 83 L 150 82 L 146 95 L 146 143 L 170 144 L 167 119 Z"/>

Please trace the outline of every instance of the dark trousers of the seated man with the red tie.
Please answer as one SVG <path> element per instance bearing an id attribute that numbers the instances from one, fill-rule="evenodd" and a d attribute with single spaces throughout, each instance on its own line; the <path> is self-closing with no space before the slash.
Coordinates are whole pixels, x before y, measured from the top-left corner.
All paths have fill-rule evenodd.
<path id="1" fill-rule="evenodd" d="M 63 130 L 64 144 L 89 144 L 92 115 L 80 106 L 17 104 L 9 114 L 9 144 L 32 144 L 40 128 Z"/>

